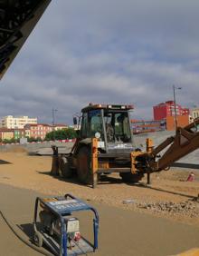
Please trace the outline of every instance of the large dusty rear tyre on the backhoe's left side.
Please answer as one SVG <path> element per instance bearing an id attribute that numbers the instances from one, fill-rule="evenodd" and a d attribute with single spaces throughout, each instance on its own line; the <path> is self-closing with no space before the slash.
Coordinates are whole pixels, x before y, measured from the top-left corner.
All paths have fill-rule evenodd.
<path id="1" fill-rule="evenodd" d="M 90 147 L 81 147 L 77 155 L 77 174 L 80 182 L 92 184 Z"/>

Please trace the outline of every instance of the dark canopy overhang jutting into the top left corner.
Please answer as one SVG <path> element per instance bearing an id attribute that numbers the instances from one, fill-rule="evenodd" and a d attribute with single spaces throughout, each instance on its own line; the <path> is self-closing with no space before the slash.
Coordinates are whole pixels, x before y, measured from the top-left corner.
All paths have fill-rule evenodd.
<path id="1" fill-rule="evenodd" d="M 51 0 L 0 0 L 0 79 Z"/>

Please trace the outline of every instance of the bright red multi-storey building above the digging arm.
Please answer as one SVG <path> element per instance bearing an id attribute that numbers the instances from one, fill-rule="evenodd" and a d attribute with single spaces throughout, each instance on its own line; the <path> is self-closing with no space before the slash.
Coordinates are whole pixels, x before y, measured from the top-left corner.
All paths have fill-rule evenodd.
<path id="1" fill-rule="evenodd" d="M 175 103 L 174 101 L 168 101 L 166 103 L 159 103 L 153 107 L 154 120 L 163 120 L 167 116 L 175 116 Z M 176 104 L 176 115 L 189 115 L 188 108 L 183 108 L 181 105 Z"/>

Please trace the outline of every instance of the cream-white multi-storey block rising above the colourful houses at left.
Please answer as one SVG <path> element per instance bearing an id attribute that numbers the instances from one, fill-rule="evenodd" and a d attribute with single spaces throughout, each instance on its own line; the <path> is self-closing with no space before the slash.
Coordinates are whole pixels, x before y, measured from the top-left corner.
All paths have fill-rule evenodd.
<path id="1" fill-rule="evenodd" d="M 24 125 L 27 123 L 37 123 L 37 118 L 7 115 L 0 120 L 0 127 L 7 129 L 24 129 Z"/>

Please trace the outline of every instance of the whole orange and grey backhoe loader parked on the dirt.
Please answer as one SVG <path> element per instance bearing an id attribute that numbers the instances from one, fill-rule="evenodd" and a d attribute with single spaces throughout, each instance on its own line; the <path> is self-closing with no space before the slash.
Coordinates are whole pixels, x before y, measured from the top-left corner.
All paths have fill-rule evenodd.
<path id="1" fill-rule="evenodd" d="M 154 148 L 147 139 L 146 151 L 133 145 L 129 112 L 132 105 L 92 104 L 81 110 L 81 130 L 71 153 L 59 153 L 53 146 L 52 174 L 70 178 L 77 173 L 80 182 L 94 188 L 101 175 L 118 172 L 124 182 L 139 182 L 147 173 L 166 170 L 199 147 L 199 119 Z M 75 123 L 77 123 L 75 121 Z M 168 147 L 168 148 L 167 148 Z M 162 153 L 162 155 L 160 155 Z"/>

